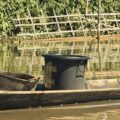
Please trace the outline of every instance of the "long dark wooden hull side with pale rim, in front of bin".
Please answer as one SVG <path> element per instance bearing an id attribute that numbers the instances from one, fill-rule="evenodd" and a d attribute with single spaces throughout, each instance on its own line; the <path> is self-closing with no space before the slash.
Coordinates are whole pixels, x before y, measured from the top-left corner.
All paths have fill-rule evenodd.
<path id="1" fill-rule="evenodd" d="M 0 91 L 0 109 L 17 109 L 120 99 L 120 88 L 51 91 Z"/>

